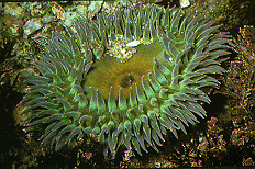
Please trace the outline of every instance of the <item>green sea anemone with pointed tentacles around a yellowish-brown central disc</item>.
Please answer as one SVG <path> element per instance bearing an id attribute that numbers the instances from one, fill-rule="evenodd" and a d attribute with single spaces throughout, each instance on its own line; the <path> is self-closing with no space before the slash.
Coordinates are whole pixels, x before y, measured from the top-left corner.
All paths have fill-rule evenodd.
<path id="1" fill-rule="evenodd" d="M 207 115 L 204 89 L 218 86 L 211 75 L 229 54 L 219 27 L 195 11 L 142 4 L 78 18 L 52 33 L 26 77 L 26 131 L 44 128 L 39 140 L 56 150 L 90 135 L 105 156 L 121 145 L 158 151 L 167 131 L 178 138 Z"/>

